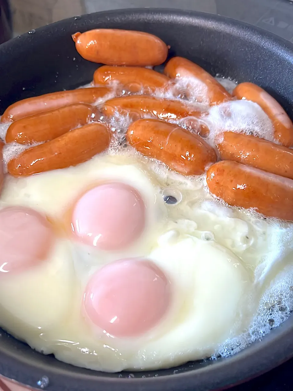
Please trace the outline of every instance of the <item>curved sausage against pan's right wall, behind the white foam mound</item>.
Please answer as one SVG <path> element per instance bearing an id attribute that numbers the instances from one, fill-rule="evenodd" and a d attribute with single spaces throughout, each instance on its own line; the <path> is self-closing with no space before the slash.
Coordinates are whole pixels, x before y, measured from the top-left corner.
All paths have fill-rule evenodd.
<path id="1" fill-rule="evenodd" d="M 270 94 L 253 83 L 238 84 L 232 94 L 237 99 L 247 99 L 257 103 L 273 123 L 274 139 L 285 147 L 293 146 L 292 121 Z"/>

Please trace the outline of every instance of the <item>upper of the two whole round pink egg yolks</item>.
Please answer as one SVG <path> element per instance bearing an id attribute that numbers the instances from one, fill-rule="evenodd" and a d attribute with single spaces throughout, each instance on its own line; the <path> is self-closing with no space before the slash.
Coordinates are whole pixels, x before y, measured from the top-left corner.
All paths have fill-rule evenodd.
<path id="1" fill-rule="evenodd" d="M 134 188 L 123 183 L 105 183 L 77 201 L 71 227 L 86 244 L 101 250 L 118 250 L 141 235 L 145 204 Z"/>

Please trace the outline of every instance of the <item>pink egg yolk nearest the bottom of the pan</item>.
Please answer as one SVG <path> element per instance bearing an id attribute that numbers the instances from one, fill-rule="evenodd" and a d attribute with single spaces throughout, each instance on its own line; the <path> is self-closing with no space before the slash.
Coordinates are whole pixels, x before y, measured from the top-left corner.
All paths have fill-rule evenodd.
<path id="1" fill-rule="evenodd" d="M 170 282 L 149 260 L 125 259 L 98 270 L 84 293 L 89 319 L 115 337 L 141 335 L 163 318 L 170 306 Z"/>

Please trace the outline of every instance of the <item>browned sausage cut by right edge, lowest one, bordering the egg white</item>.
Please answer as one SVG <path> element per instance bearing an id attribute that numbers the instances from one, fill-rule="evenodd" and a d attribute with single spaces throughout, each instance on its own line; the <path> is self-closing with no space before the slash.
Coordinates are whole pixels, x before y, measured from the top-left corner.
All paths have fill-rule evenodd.
<path id="1" fill-rule="evenodd" d="M 293 221 L 292 179 L 225 160 L 207 170 L 207 186 L 232 206 L 255 208 L 265 216 Z"/>

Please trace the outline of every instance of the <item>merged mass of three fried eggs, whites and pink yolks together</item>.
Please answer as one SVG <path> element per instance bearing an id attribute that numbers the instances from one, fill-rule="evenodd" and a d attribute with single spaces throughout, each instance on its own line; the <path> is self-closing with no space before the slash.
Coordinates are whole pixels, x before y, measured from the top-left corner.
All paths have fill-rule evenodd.
<path id="1" fill-rule="evenodd" d="M 289 228 L 217 203 L 202 177 L 130 149 L 7 176 L 0 220 L 7 210 L 25 219 L 14 219 L 16 231 L 2 224 L 9 240 L 23 240 L 1 258 L 1 326 L 40 352 L 108 372 L 210 357 L 248 330 L 264 292 L 255 271 L 267 281 L 272 238 L 281 249 L 291 240 Z M 284 252 L 272 265 L 276 256 Z"/>

